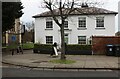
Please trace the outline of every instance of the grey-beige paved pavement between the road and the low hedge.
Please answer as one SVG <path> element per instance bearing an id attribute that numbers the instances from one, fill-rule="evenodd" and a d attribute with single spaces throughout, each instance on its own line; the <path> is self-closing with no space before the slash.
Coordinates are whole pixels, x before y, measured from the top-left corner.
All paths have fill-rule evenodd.
<path id="1" fill-rule="evenodd" d="M 39 68 L 39 69 L 70 69 L 70 70 L 81 70 L 81 69 L 111 69 L 119 70 L 119 57 L 106 56 L 106 55 L 66 55 L 66 59 L 74 60 L 72 64 L 56 64 L 49 62 L 50 60 L 60 59 L 58 57 L 51 57 L 49 54 L 35 54 L 32 50 L 24 51 L 24 54 L 15 53 L 14 55 L 7 54 L 3 55 L 2 63 L 23 66 L 28 68 Z"/>

